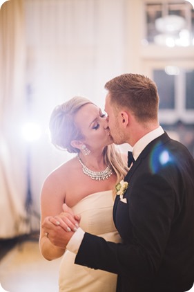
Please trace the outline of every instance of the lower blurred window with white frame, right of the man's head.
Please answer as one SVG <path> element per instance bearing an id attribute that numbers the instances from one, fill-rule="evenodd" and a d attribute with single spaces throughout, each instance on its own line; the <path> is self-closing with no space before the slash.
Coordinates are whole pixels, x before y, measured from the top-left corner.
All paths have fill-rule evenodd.
<path id="1" fill-rule="evenodd" d="M 194 69 L 153 69 L 153 80 L 159 93 L 160 121 L 166 125 L 179 120 L 194 123 Z"/>

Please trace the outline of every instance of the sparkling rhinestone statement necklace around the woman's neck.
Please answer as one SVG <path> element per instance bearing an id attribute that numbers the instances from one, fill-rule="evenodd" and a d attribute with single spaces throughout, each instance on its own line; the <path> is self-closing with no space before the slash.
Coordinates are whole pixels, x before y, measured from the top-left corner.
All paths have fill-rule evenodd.
<path id="1" fill-rule="evenodd" d="M 109 165 L 106 167 L 105 170 L 102 170 L 101 172 L 93 172 L 93 170 L 89 170 L 89 168 L 86 167 L 86 165 L 84 165 L 84 163 L 81 161 L 78 155 L 77 155 L 77 158 L 79 162 L 81 163 L 82 171 L 87 176 L 90 176 L 91 179 L 94 179 L 96 181 L 101 181 L 101 180 L 104 181 L 105 179 L 108 179 L 108 177 L 110 177 L 111 174 L 113 174 L 113 171 L 111 170 Z"/>

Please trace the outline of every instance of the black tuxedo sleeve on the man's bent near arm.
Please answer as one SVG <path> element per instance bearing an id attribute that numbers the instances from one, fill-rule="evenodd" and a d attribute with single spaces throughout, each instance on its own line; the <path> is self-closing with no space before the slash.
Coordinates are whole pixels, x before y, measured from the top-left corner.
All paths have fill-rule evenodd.
<path id="1" fill-rule="evenodd" d="M 122 275 L 155 275 L 171 230 L 175 195 L 164 178 L 147 174 L 139 177 L 131 192 L 132 241 L 115 244 L 86 232 L 75 264 Z M 124 219 L 123 224 L 127 224 Z"/>

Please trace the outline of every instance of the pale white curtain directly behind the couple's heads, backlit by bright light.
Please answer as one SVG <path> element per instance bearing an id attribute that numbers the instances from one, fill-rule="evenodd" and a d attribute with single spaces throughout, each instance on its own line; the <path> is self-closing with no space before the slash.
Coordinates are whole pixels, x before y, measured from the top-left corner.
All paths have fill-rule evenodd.
<path id="1" fill-rule="evenodd" d="M 70 158 L 50 145 L 50 113 L 73 95 L 87 96 L 104 110 L 104 84 L 125 70 L 126 2 L 25 1 L 31 115 L 43 130 L 31 152 L 37 210 L 43 180 Z"/>

